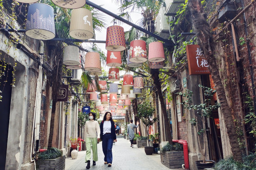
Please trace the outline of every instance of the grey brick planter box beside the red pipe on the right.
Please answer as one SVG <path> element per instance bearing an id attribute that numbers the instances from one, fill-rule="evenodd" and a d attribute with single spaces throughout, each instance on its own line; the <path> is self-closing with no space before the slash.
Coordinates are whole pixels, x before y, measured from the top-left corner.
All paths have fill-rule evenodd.
<path id="1" fill-rule="evenodd" d="M 160 152 L 161 163 L 164 166 L 172 168 L 181 168 L 184 164 L 184 154 L 183 151 L 171 151 L 171 152 Z"/>

